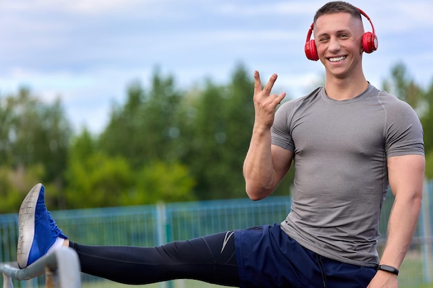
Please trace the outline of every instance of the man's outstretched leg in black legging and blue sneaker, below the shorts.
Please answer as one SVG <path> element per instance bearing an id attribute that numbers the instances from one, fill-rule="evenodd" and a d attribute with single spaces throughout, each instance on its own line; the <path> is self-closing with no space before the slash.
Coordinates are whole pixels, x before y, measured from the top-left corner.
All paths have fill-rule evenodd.
<path id="1" fill-rule="evenodd" d="M 53 251 L 67 237 L 44 202 L 44 186 L 30 190 L 19 210 L 17 260 L 21 268 Z M 177 241 L 160 247 L 98 247 L 69 242 L 82 271 L 129 284 L 191 278 L 239 286 L 233 232 Z M 63 244 L 67 244 L 63 243 Z"/>

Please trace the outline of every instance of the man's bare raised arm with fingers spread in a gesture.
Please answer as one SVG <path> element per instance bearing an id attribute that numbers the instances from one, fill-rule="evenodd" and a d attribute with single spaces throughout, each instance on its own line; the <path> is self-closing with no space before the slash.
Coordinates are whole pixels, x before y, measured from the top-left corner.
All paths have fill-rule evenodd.
<path id="1" fill-rule="evenodd" d="M 277 75 L 272 75 L 262 90 L 259 73 L 255 71 L 255 122 L 250 148 L 243 164 L 246 193 L 252 200 L 266 198 L 274 191 L 287 173 L 293 157 L 290 151 L 270 144 L 270 127 L 274 121 L 275 109 L 286 96 L 286 93 L 270 95 L 276 79 Z"/>

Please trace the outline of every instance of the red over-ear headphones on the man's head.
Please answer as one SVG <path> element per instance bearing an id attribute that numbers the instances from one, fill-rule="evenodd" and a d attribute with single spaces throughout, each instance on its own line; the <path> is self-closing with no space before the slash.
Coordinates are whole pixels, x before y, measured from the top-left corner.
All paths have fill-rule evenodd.
<path id="1" fill-rule="evenodd" d="M 371 24 L 371 28 L 373 28 L 373 32 L 365 32 L 362 36 L 362 49 L 364 49 L 364 52 L 371 53 L 373 51 L 376 51 L 378 49 L 378 37 L 376 36 L 376 33 L 374 32 L 374 26 L 371 22 L 370 17 L 365 14 L 364 11 L 360 10 L 358 8 L 359 12 L 365 16 L 365 18 L 368 19 L 368 21 Z M 313 26 L 314 22 L 311 24 L 310 30 L 308 30 L 308 34 L 306 35 L 306 43 L 305 43 L 305 55 L 308 59 L 317 61 L 319 59 L 319 55 L 317 55 L 317 49 L 315 47 L 315 41 L 314 39 L 311 39 L 311 34 L 313 34 Z"/>

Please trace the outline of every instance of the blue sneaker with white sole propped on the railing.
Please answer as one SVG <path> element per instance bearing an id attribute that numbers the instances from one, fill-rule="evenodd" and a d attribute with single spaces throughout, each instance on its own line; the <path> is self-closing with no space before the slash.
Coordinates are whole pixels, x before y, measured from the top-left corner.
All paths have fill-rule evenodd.
<path id="1" fill-rule="evenodd" d="M 35 185 L 19 208 L 17 260 L 21 269 L 44 256 L 57 237 L 67 239 L 46 210 L 44 191 L 44 185 Z"/>

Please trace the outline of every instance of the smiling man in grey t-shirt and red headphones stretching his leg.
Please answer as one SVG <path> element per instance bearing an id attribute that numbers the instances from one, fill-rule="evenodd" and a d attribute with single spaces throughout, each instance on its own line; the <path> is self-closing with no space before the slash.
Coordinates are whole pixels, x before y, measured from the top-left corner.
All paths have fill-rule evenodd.
<path id="1" fill-rule="evenodd" d="M 421 206 L 423 132 L 413 109 L 371 86 L 362 72 L 361 14 L 349 3 L 317 11 L 308 58 L 326 83 L 282 104 L 255 72 L 255 124 L 243 167 L 246 192 L 261 200 L 295 167 L 293 206 L 281 224 L 216 233 L 162 247 L 91 247 L 57 227 L 36 185 L 19 213 L 18 262 L 26 267 L 59 246 L 77 251 L 84 273 L 129 284 L 192 278 L 239 287 L 398 287 L 397 274 Z M 312 45 L 311 45 L 312 44 Z M 378 221 L 388 186 L 396 200 L 385 251 Z"/>

